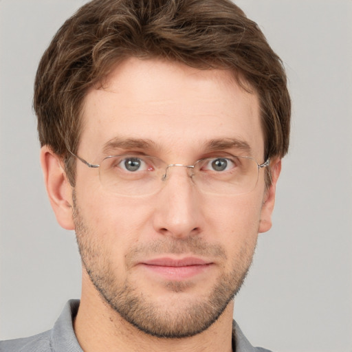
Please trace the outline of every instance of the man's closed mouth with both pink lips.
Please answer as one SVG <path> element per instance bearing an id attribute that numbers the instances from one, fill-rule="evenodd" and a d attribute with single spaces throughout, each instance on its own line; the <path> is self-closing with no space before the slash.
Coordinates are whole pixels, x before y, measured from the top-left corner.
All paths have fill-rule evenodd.
<path id="1" fill-rule="evenodd" d="M 162 276 L 171 281 L 182 281 L 203 274 L 213 264 L 211 261 L 195 257 L 182 259 L 164 257 L 140 263 L 149 274 Z"/>

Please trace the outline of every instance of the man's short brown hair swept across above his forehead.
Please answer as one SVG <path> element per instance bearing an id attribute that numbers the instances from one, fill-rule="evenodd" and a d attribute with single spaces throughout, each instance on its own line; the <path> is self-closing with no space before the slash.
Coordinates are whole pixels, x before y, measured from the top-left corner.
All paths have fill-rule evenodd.
<path id="1" fill-rule="evenodd" d="M 58 30 L 36 73 L 41 145 L 65 158 L 74 186 L 80 112 L 89 87 L 124 58 L 161 57 L 199 69 L 232 69 L 259 95 L 265 157 L 289 146 L 285 69 L 256 23 L 230 0 L 93 0 Z"/>

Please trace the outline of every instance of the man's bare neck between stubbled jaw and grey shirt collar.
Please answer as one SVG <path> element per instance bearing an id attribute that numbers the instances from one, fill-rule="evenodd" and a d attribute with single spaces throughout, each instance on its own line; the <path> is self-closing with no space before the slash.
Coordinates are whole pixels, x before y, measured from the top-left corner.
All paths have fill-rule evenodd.
<path id="1" fill-rule="evenodd" d="M 86 287 L 85 287 L 86 286 Z M 89 289 L 85 289 L 88 288 Z M 87 294 L 89 292 L 89 294 Z M 232 351 L 233 301 L 205 331 L 188 338 L 156 338 L 129 322 L 105 303 L 96 289 L 83 283 L 83 294 L 74 331 L 85 352 L 92 351 Z"/>

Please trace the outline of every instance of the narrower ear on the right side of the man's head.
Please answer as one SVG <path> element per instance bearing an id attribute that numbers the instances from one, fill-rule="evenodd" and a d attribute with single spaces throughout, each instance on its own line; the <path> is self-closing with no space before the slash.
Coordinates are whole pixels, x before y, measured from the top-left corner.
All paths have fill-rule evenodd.
<path id="1" fill-rule="evenodd" d="M 267 232 L 272 228 L 272 212 L 275 204 L 276 183 L 281 173 L 281 159 L 274 159 L 273 162 L 270 162 L 270 172 L 272 184 L 267 188 L 264 195 L 259 232 Z"/>

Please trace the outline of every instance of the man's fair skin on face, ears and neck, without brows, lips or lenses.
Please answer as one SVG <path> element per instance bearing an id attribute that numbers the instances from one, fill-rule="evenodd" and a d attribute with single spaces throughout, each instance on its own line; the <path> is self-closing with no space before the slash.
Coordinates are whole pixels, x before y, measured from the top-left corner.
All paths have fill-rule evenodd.
<path id="1" fill-rule="evenodd" d="M 246 155 L 265 162 L 258 97 L 239 87 L 226 70 L 129 58 L 115 67 L 103 87 L 89 90 L 83 125 L 77 153 L 93 164 L 107 156 L 103 146 L 115 137 L 150 140 L 153 144 L 143 149 L 145 153 L 185 165 L 219 154 L 206 147 L 209 140 L 236 138 L 250 146 Z M 140 150 L 114 148 L 109 155 L 125 151 Z M 238 148 L 223 152 L 244 153 Z M 254 190 L 236 196 L 199 192 L 186 168 L 170 170 L 154 195 L 117 196 L 102 187 L 98 169 L 77 162 L 74 199 L 62 160 L 48 146 L 41 150 L 41 163 L 56 219 L 63 228 L 76 229 L 83 256 L 74 329 L 84 351 L 232 350 L 231 298 L 250 267 L 259 232 L 272 225 L 280 159 L 271 160 L 272 185 L 265 187 L 261 170 Z M 166 256 L 195 256 L 210 265 L 186 278 L 164 276 L 141 265 Z M 191 331 L 199 317 L 192 320 L 190 311 L 203 311 L 200 320 L 209 314 L 216 319 L 206 306 L 217 296 L 216 287 L 228 290 L 230 302 L 223 300 L 219 318 L 201 332 L 193 329 L 188 337 L 159 338 L 137 329 L 113 309 L 114 303 L 122 304 L 115 302 L 114 293 L 126 285 L 131 288 L 127 296 L 140 299 L 137 307 L 153 311 L 153 319 L 140 322 L 151 329 L 164 320 L 164 327 L 174 332 Z"/>

